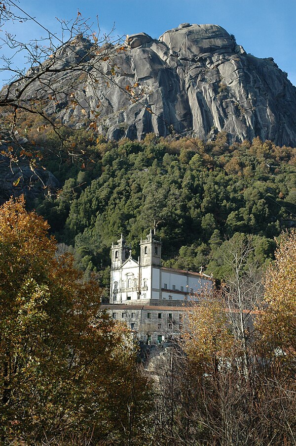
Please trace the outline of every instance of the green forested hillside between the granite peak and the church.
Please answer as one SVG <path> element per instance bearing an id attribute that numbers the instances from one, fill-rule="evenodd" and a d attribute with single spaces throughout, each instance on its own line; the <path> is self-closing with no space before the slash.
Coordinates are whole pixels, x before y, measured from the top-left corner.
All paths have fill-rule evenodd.
<path id="1" fill-rule="evenodd" d="M 47 153 L 41 163 L 63 185 L 29 206 L 48 220 L 61 250 L 74 252 L 79 268 L 101 271 L 104 285 L 111 243 L 121 232 L 137 255 L 139 239 L 155 226 L 166 266 L 203 266 L 222 278 L 218 248 L 225 236 L 254 234 L 264 264 L 274 237 L 296 223 L 295 148 L 259 138 L 229 146 L 224 133 L 207 143 L 153 134 L 108 141 L 84 130 L 64 136 L 78 157 L 60 149 L 51 131 L 29 131 L 35 150 L 42 144 Z"/>

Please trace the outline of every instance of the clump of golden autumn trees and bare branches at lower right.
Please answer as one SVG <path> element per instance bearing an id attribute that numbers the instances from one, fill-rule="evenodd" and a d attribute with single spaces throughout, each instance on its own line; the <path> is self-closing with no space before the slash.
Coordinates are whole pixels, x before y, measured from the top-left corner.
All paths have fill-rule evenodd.
<path id="1" fill-rule="evenodd" d="M 236 238 L 227 251 L 235 276 L 188 312 L 183 374 L 171 392 L 180 404 L 175 429 L 187 444 L 296 444 L 295 236 L 281 235 L 262 278 L 263 301 L 254 250 Z"/>

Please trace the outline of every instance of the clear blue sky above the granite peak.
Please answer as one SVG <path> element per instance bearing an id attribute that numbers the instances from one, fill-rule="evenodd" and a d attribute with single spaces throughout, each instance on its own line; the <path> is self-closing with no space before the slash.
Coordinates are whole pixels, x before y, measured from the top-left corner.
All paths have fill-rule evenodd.
<path id="1" fill-rule="evenodd" d="M 247 52 L 273 57 L 296 85 L 295 0 L 19 0 L 18 4 L 52 32 L 59 31 L 55 17 L 74 18 L 78 9 L 94 21 L 98 15 L 102 32 L 110 32 L 115 24 L 114 37 L 143 31 L 158 38 L 180 23 L 214 23 L 234 34 Z M 32 22 L 9 24 L 7 30 L 22 41 L 45 34 Z M 19 59 L 18 65 L 23 64 Z"/>

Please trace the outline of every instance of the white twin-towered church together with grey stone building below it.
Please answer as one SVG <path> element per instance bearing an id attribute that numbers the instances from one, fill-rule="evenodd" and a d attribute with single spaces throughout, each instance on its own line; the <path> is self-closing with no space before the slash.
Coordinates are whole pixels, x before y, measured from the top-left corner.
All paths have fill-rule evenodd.
<path id="1" fill-rule="evenodd" d="M 212 277 L 202 271 L 162 267 L 161 240 L 151 230 L 140 241 L 138 260 L 121 235 L 111 247 L 110 304 L 102 309 L 125 322 L 139 341 L 159 344 L 182 335 L 192 302 L 212 289 Z"/>

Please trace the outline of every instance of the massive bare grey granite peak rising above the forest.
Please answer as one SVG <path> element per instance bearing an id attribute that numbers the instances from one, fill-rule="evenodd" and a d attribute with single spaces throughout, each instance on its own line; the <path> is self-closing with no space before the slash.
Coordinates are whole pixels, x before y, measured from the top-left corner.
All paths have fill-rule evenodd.
<path id="1" fill-rule="evenodd" d="M 128 36 L 124 49 L 109 48 L 115 65 L 111 85 L 104 80 L 111 74 L 110 60 L 89 56 L 89 44 L 76 48 L 82 58 L 85 48 L 88 59 L 75 74 L 75 102 L 68 91 L 58 96 L 58 107 L 56 100 L 47 105 L 68 125 L 96 120 L 100 133 L 115 139 L 141 139 L 149 132 L 165 136 L 175 129 L 201 139 L 225 131 L 230 142 L 259 136 L 296 145 L 296 88 L 272 58 L 247 54 L 220 26 L 184 23 L 159 40 L 145 33 Z M 70 47 L 59 51 L 57 63 L 81 63 L 76 50 L 75 57 Z M 68 79 L 66 72 L 51 85 Z M 34 96 L 34 85 L 30 88 Z"/>

